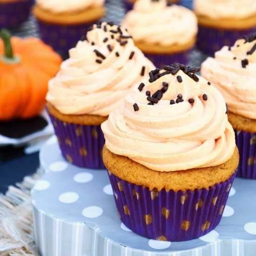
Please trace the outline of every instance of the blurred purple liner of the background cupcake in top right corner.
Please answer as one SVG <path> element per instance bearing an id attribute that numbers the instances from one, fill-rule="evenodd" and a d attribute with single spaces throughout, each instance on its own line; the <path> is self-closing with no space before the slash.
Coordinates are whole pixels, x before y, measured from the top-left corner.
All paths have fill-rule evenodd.
<path id="1" fill-rule="evenodd" d="M 246 30 L 225 30 L 199 25 L 196 47 L 204 54 L 214 55 L 223 46 L 233 46 L 237 39 L 250 35 L 255 28 Z"/>

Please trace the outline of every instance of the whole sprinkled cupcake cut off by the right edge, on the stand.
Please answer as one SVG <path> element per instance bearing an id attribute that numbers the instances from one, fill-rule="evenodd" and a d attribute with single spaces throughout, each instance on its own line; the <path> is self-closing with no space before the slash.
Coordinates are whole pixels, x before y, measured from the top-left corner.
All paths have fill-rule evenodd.
<path id="1" fill-rule="evenodd" d="M 202 76 L 227 102 L 241 156 L 237 176 L 256 179 L 256 34 L 222 47 L 202 63 Z"/>

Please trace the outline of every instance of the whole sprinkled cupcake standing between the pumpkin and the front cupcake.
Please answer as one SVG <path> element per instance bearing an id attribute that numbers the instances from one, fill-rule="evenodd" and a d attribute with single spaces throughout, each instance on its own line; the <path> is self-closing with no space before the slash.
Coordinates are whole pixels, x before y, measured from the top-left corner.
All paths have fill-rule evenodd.
<path id="1" fill-rule="evenodd" d="M 134 85 L 147 81 L 154 65 L 122 27 L 106 22 L 94 25 L 69 54 L 49 82 L 48 112 L 64 158 L 104 168 L 101 123 Z"/>

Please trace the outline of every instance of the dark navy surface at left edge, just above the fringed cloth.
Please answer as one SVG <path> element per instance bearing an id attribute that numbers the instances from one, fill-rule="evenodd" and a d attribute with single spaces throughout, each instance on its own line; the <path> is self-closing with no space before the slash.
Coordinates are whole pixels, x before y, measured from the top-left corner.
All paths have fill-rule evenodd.
<path id="1" fill-rule="evenodd" d="M 6 149 L 8 150 L 8 149 Z M 21 153 L 14 149 L 16 154 Z M 14 152 L 10 150 L 10 154 Z M 13 153 L 14 154 L 14 153 Z M 0 193 L 5 193 L 9 185 L 21 182 L 26 175 L 32 175 L 39 166 L 39 153 L 20 155 L 0 163 Z"/>

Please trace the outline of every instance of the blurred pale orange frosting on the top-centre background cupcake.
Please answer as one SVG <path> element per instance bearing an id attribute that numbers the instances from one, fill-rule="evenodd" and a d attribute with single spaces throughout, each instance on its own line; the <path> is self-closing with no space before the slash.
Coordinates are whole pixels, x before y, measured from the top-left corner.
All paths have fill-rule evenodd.
<path id="1" fill-rule="evenodd" d="M 163 47 L 187 44 L 197 33 L 195 14 L 166 0 L 137 0 L 122 26 L 128 28 L 135 42 Z"/>

